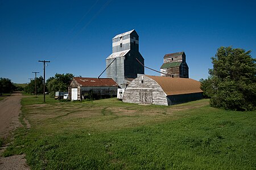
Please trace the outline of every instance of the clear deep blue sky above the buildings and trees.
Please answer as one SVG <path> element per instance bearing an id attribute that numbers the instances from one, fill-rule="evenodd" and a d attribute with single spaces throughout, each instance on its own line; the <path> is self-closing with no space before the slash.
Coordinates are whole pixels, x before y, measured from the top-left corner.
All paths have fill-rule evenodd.
<path id="1" fill-rule="evenodd" d="M 27 83 L 32 71 L 97 77 L 112 38 L 135 29 L 145 65 L 184 51 L 189 78 L 207 78 L 220 46 L 256 54 L 256 1 L 0 0 L 0 77 Z M 159 75 L 145 69 L 149 75 Z M 102 75 L 105 77 L 106 75 Z"/>

